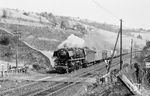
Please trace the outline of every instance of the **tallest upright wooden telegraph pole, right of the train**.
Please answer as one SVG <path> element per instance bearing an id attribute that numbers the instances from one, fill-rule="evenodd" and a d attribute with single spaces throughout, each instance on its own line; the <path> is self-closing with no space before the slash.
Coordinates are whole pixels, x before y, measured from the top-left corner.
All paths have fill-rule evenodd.
<path id="1" fill-rule="evenodd" d="M 120 19 L 120 70 L 122 69 L 122 19 Z"/>

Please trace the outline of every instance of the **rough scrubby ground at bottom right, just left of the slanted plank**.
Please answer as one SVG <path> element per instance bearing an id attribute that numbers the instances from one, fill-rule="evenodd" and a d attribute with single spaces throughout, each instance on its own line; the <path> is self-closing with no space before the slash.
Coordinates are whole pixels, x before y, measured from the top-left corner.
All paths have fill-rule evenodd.
<path id="1" fill-rule="evenodd" d="M 87 88 L 87 93 L 81 96 L 132 96 L 131 92 L 125 87 L 122 82 L 117 82 L 112 85 L 98 85 L 95 88 Z"/>

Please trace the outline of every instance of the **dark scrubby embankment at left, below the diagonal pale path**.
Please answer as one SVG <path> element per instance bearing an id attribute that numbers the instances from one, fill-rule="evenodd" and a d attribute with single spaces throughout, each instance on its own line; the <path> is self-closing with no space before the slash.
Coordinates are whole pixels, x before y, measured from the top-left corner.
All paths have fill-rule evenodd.
<path id="1" fill-rule="evenodd" d="M 34 65 L 38 71 L 52 69 L 49 59 L 25 42 L 17 40 L 17 38 L 7 30 L 0 29 L 0 60 L 12 63 L 16 62 L 16 51 L 18 51 L 18 63 Z"/>

